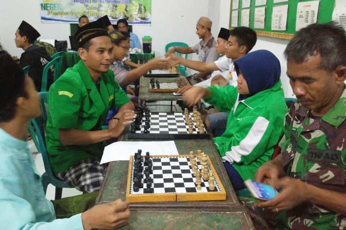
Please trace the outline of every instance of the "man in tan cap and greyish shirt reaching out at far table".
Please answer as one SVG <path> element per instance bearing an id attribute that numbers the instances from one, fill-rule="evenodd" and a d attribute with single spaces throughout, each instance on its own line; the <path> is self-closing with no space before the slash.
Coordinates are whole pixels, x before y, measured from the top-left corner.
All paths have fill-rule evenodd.
<path id="1" fill-rule="evenodd" d="M 216 52 L 216 40 L 214 39 L 211 29 L 213 22 L 207 17 L 201 17 L 197 21 L 196 34 L 202 39 L 198 44 L 192 47 L 172 47 L 166 53 L 166 57 L 173 52 L 178 53 L 196 53 L 198 60 L 202 62 L 214 62 L 218 59 L 219 54 Z M 211 72 L 199 72 L 194 76 L 197 82 L 209 79 Z"/>

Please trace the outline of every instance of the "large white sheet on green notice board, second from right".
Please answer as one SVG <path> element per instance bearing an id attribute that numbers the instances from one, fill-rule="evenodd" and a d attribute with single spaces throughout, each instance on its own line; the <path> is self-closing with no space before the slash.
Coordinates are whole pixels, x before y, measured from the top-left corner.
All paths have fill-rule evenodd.
<path id="1" fill-rule="evenodd" d="M 319 0 L 298 2 L 296 31 L 317 22 L 319 3 Z"/>

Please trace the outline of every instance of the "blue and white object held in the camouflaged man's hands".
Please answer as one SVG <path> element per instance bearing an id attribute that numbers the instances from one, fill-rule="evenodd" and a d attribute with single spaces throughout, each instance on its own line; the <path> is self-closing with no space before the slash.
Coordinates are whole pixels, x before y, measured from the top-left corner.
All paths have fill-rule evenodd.
<path id="1" fill-rule="evenodd" d="M 270 200 L 274 198 L 278 191 L 268 184 L 255 182 L 251 179 L 244 182 L 250 193 L 259 200 Z"/>

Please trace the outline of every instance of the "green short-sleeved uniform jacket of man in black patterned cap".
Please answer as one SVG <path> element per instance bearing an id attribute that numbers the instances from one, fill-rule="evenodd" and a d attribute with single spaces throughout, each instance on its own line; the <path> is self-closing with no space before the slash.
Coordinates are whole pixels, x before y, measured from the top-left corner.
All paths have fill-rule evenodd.
<path id="1" fill-rule="evenodd" d="M 108 110 L 129 102 L 126 93 L 114 81 L 113 71 L 103 73 L 99 83 L 100 93 L 80 60 L 49 89 L 46 144 L 55 173 L 63 172 L 84 159 L 100 159 L 103 151 L 102 143 L 64 146 L 60 142 L 59 129 L 100 130 Z"/>

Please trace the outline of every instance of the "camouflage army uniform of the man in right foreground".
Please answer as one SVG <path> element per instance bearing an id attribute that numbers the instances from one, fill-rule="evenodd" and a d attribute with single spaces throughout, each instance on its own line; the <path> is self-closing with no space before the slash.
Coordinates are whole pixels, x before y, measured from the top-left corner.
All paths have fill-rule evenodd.
<path id="1" fill-rule="evenodd" d="M 325 115 L 313 117 L 295 103 L 286 116 L 282 145 L 288 176 L 316 187 L 346 192 L 346 89 Z M 294 194 L 292 194 L 294 195 Z M 279 215 L 293 230 L 343 230 L 346 216 L 312 203 L 305 203 Z"/>

